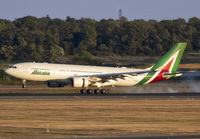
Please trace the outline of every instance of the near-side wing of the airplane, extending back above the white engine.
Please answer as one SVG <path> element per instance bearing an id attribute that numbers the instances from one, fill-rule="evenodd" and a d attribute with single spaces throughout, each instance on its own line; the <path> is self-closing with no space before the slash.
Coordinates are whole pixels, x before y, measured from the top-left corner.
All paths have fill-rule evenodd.
<path id="1" fill-rule="evenodd" d="M 87 77 L 91 82 L 105 83 L 109 80 L 117 81 L 117 79 L 125 80 L 125 77 L 134 77 L 138 74 L 153 72 L 153 70 L 135 71 L 135 72 L 122 72 L 122 73 L 109 73 L 109 74 L 97 74 L 97 75 L 83 75 L 76 77 Z"/>

